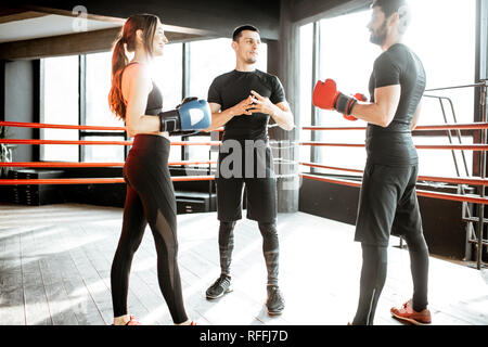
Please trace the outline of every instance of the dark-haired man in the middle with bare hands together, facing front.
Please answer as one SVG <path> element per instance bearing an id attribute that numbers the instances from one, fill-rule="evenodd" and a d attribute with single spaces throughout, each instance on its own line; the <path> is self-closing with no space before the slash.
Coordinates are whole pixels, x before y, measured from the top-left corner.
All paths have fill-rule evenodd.
<path id="1" fill-rule="evenodd" d="M 255 68 L 259 44 L 257 28 L 237 27 L 232 36 L 236 67 L 215 78 L 208 90 L 213 119 L 207 130 L 222 126 L 224 130 L 216 175 L 221 274 L 206 296 L 214 299 L 231 291 L 233 228 L 242 218 L 245 184 L 247 218 L 258 222 L 262 235 L 268 270 L 266 306 L 269 314 L 280 314 L 284 300 L 278 286 L 277 181 L 267 126 L 270 116 L 285 130 L 293 129 L 294 121 L 278 77 Z"/>

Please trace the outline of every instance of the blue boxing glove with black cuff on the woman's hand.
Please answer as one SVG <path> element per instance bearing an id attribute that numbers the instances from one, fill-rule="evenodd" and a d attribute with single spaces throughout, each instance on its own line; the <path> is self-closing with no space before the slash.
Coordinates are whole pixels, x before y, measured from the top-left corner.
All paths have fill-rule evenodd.
<path id="1" fill-rule="evenodd" d="M 184 134 L 184 131 L 198 131 L 210 126 L 211 111 L 205 100 L 185 98 L 176 110 L 158 114 L 159 131 L 169 134 Z"/>

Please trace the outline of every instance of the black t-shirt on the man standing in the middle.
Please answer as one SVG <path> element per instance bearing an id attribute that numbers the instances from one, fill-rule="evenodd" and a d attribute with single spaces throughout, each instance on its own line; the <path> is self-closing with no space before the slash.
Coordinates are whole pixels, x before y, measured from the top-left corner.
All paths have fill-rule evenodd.
<path id="1" fill-rule="evenodd" d="M 269 98 L 273 104 L 285 100 L 283 86 L 277 76 L 258 69 L 254 72 L 234 69 L 214 79 L 208 89 L 207 101 L 219 104 L 224 111 L 248 98 L 252 90 Z M 269 115 L 262 113 L 234 116 L 224 126 L 223 140 L 267 139 L 268 121 Z"/>

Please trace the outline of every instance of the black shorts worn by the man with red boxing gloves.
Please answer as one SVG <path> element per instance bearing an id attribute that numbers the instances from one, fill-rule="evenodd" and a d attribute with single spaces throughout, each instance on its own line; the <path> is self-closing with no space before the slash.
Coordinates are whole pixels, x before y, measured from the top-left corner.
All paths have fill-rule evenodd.
<path id="1" fill-rule="evenodd" d="M 387 246 L 396 235 L 422 233 L 416 198 L 418 165 L 386 166 L 367 163 L 359 194 L 355 241 Z"/>

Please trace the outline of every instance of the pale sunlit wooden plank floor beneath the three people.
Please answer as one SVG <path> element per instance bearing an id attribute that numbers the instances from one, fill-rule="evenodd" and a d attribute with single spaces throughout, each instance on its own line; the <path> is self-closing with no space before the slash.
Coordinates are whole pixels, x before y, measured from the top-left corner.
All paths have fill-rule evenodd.
<path id="1" fill-rule="evenodd" d="M 0 205 L 0 324 L 111 324 L 110 269 L 121 209 L 63 204 Z M 266 267 L 256 222 L 235 228 L 234 292 L 209 301 L 219 274 L 215 213 L 178 216 L 179 266 L 189 316 L 200 324 L 335 324 L 355 314 L 361 250 L 354 227 L 297 213 L 279 215 L 281 317 L 266 313 Z M 398 245 L 393 239 L 391 245 Z M 488 324 L 487 270 L 431 258 L 433 324 Z M 389 308 L 411 296 L 408 252 L 388 250 L 376 324 L 400 324 Z M 145 324 L 171 324 L 156 277 L 149 230 L 136 254 L 129 311 Z"/>

